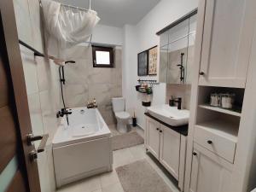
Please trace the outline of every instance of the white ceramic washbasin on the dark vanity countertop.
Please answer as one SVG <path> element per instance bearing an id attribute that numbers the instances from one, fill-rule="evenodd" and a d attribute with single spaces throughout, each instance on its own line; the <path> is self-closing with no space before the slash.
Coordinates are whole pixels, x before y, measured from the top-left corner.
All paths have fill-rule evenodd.
<path id="1" fill-rule="evenodd" d="M 177 107 L 170 107 L 166 104 L 149 107 L 148 113 L 168 125 L 181 126 L 189 124 L 189 110 L 186 109 L 178 110 Z"/>

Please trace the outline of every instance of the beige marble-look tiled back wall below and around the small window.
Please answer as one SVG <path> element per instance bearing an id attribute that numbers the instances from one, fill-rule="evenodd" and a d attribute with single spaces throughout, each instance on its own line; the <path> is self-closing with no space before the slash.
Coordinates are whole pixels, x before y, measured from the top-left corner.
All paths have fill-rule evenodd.
<path id="1" fill-rule="evenodd" d="M 114 49 L 114 67 L 100 68 L 92 65 L 90 47 L 78 46 L 72 50 L 71 59 L 76 64 L 65 67 L 64 95 L 68 108 L 84 107 L 88 100 L 96 98 L 98 108 L 108 125 L 115 122 L 111 98 L 122 96 L 122 49 Z M 80 55 L 84 55 L 82 58 Z M 79 54 L 79 59 L 77 55 Z"/>

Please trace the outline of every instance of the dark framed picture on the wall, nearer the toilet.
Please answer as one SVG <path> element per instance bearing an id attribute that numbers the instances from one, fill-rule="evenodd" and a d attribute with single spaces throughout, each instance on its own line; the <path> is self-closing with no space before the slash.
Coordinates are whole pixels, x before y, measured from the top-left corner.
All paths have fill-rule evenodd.
<path id="1" fill-rule="evenodd" d="M 148 75 L 148 50 L 145 50 L 137 55 L 137 75 Z"/>

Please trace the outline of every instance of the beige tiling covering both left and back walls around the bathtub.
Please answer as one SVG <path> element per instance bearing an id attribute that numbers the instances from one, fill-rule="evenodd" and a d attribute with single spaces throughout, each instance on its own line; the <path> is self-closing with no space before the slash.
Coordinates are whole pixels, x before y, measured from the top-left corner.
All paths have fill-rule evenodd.
<path id="1" fill-rule="evenodd" d="M 20 40 L 44 53 L 44 31 L 40 22 L 38 0 L 13 0 Z M 65 67 L 67 84 L 64 88 L 67 107 L 83 107 L 88 99 L 96 98 L 103 118 L 113 124 L 111 98 L 122 95 L 120 47 L 115 49 L 114 68 L 93 68 L 91 49 L 79 46 L 73 51 L 75 65 Z M 26 79 L 26 91 L 34 135 L 49 134 L 46 151 L 38 154 L 38 169 L 42 192 L 55 191 L 55 175 L 51 141 L 59 124 L 55 113 L 62 108 L 58 66 L 52 61 L 34 57 L 31 50 L 20 45 Z M 84 55 L 76 59 L 77 55 Z"/>

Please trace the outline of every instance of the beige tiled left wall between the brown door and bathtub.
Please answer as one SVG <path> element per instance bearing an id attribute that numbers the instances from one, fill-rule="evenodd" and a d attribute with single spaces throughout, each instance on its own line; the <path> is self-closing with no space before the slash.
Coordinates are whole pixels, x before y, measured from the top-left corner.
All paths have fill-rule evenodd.
<path id="1" fill-rule="evenodd" d="M 14 0 L 15 16 L 20 40 L 44 52 L 44 38 L 40 23 L 38 0 Z M 38 170 L 42 192 L 55 191 L 51 139 L 57 129 L 56 111 L 60 108 L 60 86 L 55 64 L 34 57 L 31 50 L 20 45 L 26 79 L 26 92 L 34 135 L 49 133 L 44 153 L 38 154 Z"/>

